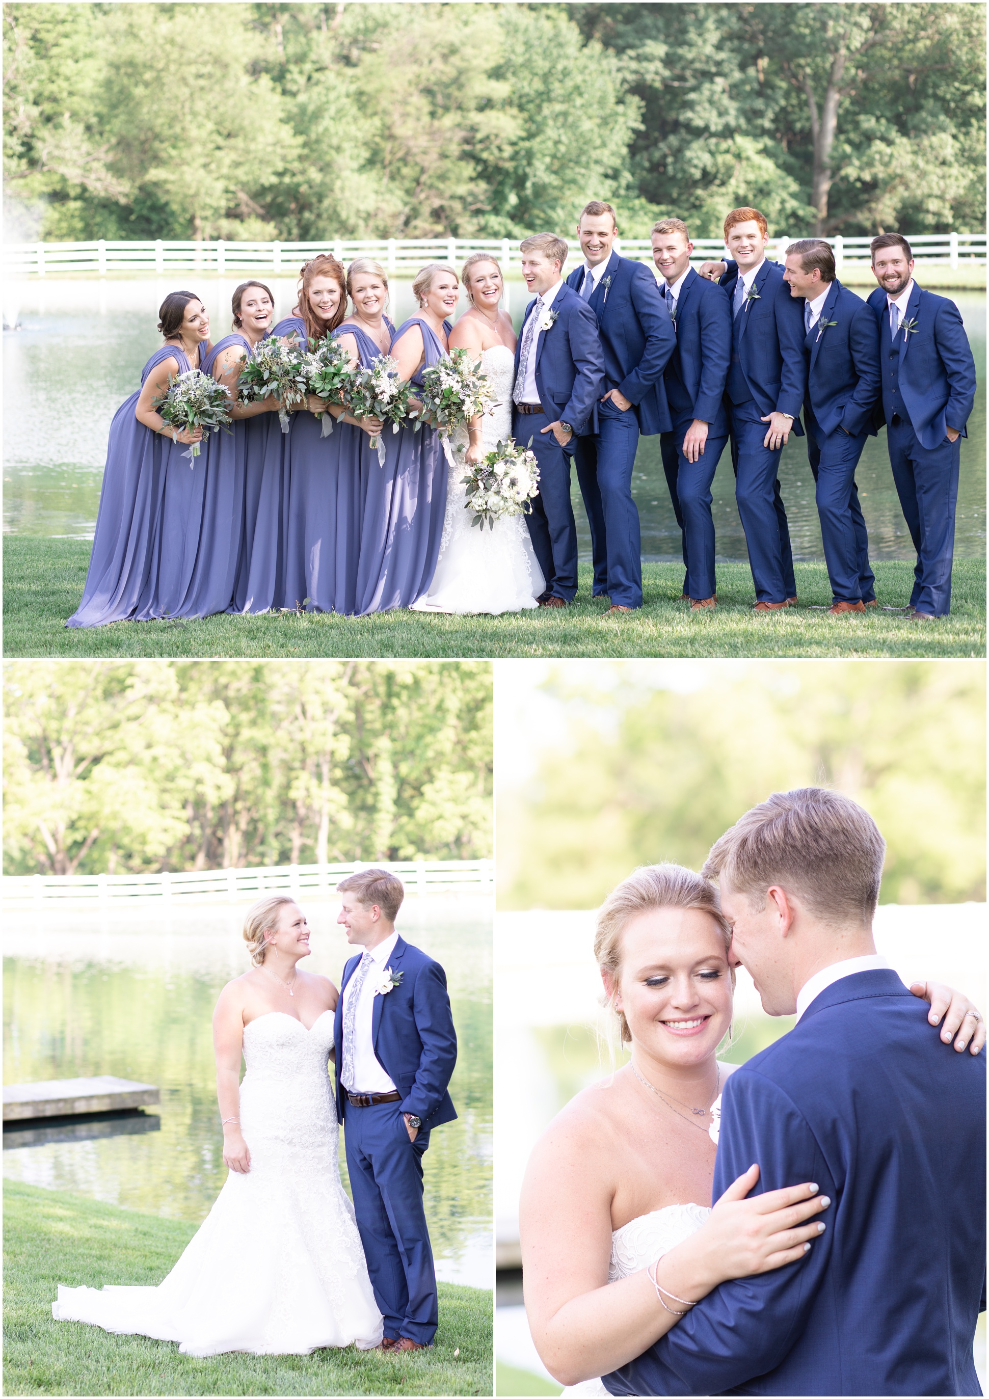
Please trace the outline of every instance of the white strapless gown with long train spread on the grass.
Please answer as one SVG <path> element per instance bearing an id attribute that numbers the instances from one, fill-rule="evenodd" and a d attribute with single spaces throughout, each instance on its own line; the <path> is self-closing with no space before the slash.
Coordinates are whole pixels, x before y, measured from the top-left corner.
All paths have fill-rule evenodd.
<path id="1" fill-rule="evenodd" d="M 59 1286 L 52 1315 L 176 1340 L 187 1356 L 376 1346 L 382 1316 L 337 1165 L 332 1045 L 330 1010 L 311 1030 L 281 1010 L 252 1020 L 241 1084 L 250 1171 L 229 1172 L 158 1287 Z"/>

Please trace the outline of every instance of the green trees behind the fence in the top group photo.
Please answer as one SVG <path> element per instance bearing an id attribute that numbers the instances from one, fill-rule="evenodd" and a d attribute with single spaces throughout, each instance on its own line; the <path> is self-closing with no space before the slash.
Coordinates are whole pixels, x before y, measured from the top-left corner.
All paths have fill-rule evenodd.
<path id="1" fill-rule="evenodd" d="M 8 239 L 981 231 L 985 7 L 7 4 Z"/>

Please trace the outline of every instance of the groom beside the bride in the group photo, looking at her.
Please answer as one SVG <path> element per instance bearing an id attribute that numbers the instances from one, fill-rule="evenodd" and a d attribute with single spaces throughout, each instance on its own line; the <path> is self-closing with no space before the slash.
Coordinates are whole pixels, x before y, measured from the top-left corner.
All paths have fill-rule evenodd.
<path id="1" fill-rule="evenodd" d="M 604 385 L 597 318 L 562 281 L 567 243 L 554 234 L 523 239 L 522 276 L 536 298 L 526 306 L 515 350 L 512 431 L 539 463 L 539 495 L 526 515 L 546 576 L 543 607 L 565 607 L 576 593 L 576 525 L 571 456 Z"/>

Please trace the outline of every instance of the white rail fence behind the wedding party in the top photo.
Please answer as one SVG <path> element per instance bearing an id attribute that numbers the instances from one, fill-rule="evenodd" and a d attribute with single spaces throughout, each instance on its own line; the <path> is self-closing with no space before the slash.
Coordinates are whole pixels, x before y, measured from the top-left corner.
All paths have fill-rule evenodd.
<path id="1" fill-rule="evenodd" d="M 789 234 L 772 239 L 776 256 L 788 243 L 806 234 Z M 908 239 L 920 263 L 943 263 L 948 267 L 983 263 L 986 260 L 985 234 L 918 234 Z M 576 241 L 568 239 L 571 260 L 579 253 Z M 869 238 L 830 238 L 838 267 L 844 263 L 869 262 Z M 627 238 L 616 243 L 625 257 L 652 263 L 648 238 Z M 719 238 L 698 238 L 694 259 L 720 257 L 725 246 Z M 158 239 L 157 242 L 108 242 L 98 239 L 84 243 L 6 243 L 4 273 L 45 277 L 50 273 L 155 273 L 159 277 L 175 271 L 211 273 L 217 277 L 238 276 L 245 271 L 267 271 L 273 276 L 295 276 L 299 266 L 316 253 L 333 253 L 340 262 L 354 257 L 373 257 L 389 273 L 414 273 L 428 262 L 449 262 L 457 267 L 474 252 L 494 253 L 506 271 L 518 269 L 522 253 L 518 241 L 476 238 L 376 239 L 354 242 L 326 239 L 311 243 L 228 243 Z"/>

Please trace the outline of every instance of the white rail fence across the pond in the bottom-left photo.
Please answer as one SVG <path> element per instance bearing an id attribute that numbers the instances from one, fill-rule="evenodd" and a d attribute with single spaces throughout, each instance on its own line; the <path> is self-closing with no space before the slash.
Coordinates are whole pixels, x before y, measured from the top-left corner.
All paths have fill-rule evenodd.
<path id="1" fill-rule="evenodd" d="M 185 870 L 176 874 L 7 874 L 1 888 L 4 901 L 15 907 L 52 900 L 119 904 L 134 898 L 157 898 L 164 902 L 207 898 L 235 902 L 280 893 L 329 895 L 336 891 L 340 880 L 368 867 L 371 862 L 364 860 L 355 865 L 273 865 L 262 869 Z M 492 860 L 380 862 L 373 867 L 397 874 L 407 894 L 439 894 L 449 890 L 494 893 Z"/>

